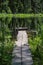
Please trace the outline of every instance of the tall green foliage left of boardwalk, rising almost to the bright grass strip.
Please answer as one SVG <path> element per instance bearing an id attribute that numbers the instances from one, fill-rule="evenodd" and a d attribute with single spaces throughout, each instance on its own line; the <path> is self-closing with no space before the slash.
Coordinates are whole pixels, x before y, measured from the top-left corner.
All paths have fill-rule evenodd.
<path id="1" fill-rule="evenodd" d="M 0 65 L 11 65 L 12 60 L 13 41 L 7 21 L 0 19 Z"/>

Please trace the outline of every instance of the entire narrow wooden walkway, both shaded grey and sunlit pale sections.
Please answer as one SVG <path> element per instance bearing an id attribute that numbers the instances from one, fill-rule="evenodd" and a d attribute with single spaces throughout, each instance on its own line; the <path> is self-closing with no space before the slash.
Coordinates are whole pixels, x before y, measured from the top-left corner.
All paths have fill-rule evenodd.
<path id="1" fill-rule="evenodd" d="M 33 60 L 26 31 L 18 31 L 16 47 L 13 50 L 12 65 L 32 65 Z"/>

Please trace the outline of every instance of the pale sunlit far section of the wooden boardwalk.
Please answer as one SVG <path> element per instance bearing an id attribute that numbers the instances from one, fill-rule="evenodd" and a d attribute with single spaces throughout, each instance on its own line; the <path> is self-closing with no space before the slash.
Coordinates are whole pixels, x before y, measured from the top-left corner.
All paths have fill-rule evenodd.
<path id="1" fill-rule="evenodd" d="M 28 43 L 28 36 L 26 31 L 18 31 L 17 41 L 15 41 L 17 46 L 21 46 Z"/>

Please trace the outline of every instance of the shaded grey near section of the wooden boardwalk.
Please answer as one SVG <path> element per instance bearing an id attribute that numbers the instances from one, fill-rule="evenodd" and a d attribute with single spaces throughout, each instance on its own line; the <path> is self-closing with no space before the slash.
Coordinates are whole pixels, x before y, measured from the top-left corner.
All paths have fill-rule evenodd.
<path id="1" fill-rule="evenodd" d="M 16 46 L 12 53 L 12 65 L 33 65 L 32 55 L 28 44 Z"/>

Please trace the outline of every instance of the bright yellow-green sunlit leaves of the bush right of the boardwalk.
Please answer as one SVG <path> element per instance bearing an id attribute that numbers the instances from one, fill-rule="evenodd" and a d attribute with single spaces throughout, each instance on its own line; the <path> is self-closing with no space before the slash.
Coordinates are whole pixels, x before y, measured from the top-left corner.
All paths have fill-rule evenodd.
<path id="1" fill-rule="evenodd" d="M 37 46 L 41 44 L 41 39 L 40 37 L 36 36 L 35 38 L 29 38 L 29 44 L 30 44 L 30 48 L 32 53 L 35 53 Z"/>

